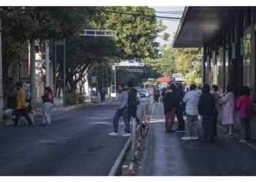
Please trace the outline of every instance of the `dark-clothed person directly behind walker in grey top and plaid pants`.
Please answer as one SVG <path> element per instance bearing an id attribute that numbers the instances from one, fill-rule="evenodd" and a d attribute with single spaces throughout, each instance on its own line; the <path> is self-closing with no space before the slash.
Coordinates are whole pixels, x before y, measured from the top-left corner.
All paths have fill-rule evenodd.
<path id="1" fill-rule="evenodd" d="M 129 81 L 128 83 L 128 116 L 129 116 L 129 120 L 131 119 L 131 117 L 136 118 L 136 122 L 138 124 L 140 124 L 140 119 L 138 119 L 137 116 L 137 105 L 138 105 L 138 100 L 137 98 L 137 90 L 133 87 L 133 84 L 131 81 Z M 143 130 L 145 130 L 145 134 L 148 132 L 148 126 L 146 126 L 145 124 L 141 123 L 141 127 L 143 128 Z"/>

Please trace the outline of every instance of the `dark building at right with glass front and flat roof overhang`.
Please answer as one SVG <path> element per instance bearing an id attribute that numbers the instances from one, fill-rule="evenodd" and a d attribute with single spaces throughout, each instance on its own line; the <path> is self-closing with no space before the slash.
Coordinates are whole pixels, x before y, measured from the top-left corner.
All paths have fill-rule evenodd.
<path id="1" fill-rule="evenodd" d="M 236 97 L 246 85 L 256 103 L 255 23 L 256 7 L 186 7 L 173 47 L 203 47 L 203 82 L 220 95 L 231 84 Z"/>

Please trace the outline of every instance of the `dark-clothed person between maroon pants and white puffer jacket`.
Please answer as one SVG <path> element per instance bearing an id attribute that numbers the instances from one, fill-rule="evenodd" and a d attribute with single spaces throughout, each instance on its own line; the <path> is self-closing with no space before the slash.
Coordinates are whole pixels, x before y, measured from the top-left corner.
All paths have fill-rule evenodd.
<path id="1" fill-rule="evenodd" d="M 182 85 L 178 84 L 178 87 L 176 88 L 177 97 L 178 97 L 178 104 L 176 107 L 176 116 L 178 118 L 178 128 L 176 132 L 184 132 L 185 131 L 185 123 L 183 118 L 183 112 L 184 112 L 184 92 L 182 90 Z"/>

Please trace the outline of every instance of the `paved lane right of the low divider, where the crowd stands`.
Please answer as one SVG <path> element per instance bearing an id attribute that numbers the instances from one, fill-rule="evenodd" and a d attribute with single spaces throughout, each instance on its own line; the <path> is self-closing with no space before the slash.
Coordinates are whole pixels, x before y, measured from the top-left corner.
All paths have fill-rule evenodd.
<path id="1" fill-rule="evenodd" d="M 184 117 L 185 119 L 185 117 Z M 173 129 L 176 129 L 175 122 Z M 182 141 L 184 132 L 165 132 L 161 103 L 155 103 L 146 137 L 138 175 L 256 175 L 255 149 L 237 138 L 225 138 L 218 127 L 216 143 L 201 143 L 202 127 L 198 123 L 199 140 Z"/>

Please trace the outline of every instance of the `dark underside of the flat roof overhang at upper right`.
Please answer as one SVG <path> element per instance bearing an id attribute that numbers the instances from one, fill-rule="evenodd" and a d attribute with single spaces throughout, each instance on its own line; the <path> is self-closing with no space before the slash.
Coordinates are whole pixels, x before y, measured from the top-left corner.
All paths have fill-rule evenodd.
<path id="1" fill-rule="evenodd" d="M 203 47 L 244 7 L 186 7 L 178 25 L 173 47 Z"/>

